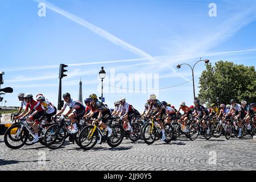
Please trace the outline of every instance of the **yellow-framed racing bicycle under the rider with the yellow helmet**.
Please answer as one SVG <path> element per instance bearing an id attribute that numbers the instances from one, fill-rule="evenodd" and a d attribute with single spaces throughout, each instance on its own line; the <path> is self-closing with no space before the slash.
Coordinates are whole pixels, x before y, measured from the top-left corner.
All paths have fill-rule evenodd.
<path id="1" fill-rule="evenodd" d="M 83 150 L 90 150 L 96 145 L 99 138 L 101 138 L 101 142 L 107 142 L 110 147 L 119 146 L 124 137 L 122 126 L 119 123 L 115 123 L 109 127 L 112 128 L 110 137 L 108 137 L 108 131 L 105 131 L 103 127 L 98 126 L 98 122 L 96 121 L 94 121 L 92 125 L 84 127 L 78 138 L 79 146 Z"/>

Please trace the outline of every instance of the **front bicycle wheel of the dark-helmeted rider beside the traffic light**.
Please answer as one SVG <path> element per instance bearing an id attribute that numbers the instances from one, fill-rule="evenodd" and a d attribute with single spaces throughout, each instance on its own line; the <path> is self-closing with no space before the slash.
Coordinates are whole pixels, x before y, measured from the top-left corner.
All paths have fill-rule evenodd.
<path id="1" fill-rule="evenodd" d="M 56 124 L 48 127 L 44 134 L 43 142 L 48 148 L 56 150 L 64 144 L 66 138 L 64 127 Z"/>

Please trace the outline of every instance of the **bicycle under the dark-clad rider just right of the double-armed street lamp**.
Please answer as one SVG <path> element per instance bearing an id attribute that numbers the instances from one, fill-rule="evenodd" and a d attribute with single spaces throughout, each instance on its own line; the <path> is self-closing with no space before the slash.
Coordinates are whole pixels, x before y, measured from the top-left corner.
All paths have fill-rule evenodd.
<path id="1" fill-rule="evenodd" d="M 199 135 L 203 135 L 205 139 L 209 140 L 213 136 L 213 125 L 212 123 L 206 123 L 207 128 L 204 129 L 201 122 L 203 119 L 199 119 L 199 123 L 194 123 L 189 130 L 189 139 L 191 141 L 197 139 Z M 208 132 L 205 131 L 208 129 Z"/>

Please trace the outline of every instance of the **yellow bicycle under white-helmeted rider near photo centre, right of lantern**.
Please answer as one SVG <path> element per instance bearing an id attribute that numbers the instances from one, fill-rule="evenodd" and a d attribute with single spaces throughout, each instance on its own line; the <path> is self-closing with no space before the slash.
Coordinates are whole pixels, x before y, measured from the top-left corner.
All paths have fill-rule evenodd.
<path id="1" fill-rule="evenodd" d="M 144 142 L 147 144 L 152 144 L 155 142 L 155 140 L 162 138 L 162 130 L 157 120 L 159 121 L 160 119 L 151 117 L 151 121 L 146 123 L 143 128 L 142 137 Z M 170 123 L 164 123 L 164 131 L 166 135 L 164 142 L 170 143 L 173 136 L 173 129 Z"/>

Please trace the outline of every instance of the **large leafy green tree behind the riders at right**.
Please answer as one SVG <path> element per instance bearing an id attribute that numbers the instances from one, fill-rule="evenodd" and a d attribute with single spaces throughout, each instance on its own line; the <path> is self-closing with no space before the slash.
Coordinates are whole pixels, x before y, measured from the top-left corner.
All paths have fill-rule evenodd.
<path id="1" fill-rule="evenodd" d="M 237 65 L 228 61 L 218 61 L 215 67 L 208 64 L 199 79 L 199 99 L 201 102 L 229 104 L 232 98 L 237 102 L 256 101 L 255 67 Z"/>

